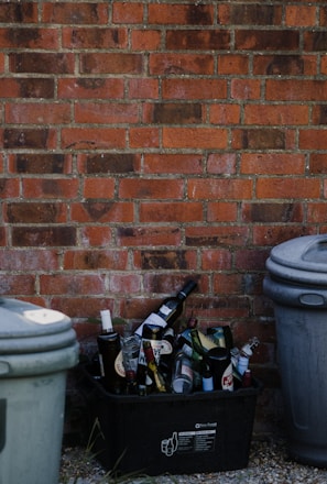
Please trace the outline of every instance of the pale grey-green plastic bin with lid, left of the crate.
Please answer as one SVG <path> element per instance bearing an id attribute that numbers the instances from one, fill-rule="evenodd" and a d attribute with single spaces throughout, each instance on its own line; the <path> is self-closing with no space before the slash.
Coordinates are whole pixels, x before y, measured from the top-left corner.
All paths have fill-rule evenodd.
<path id="1" fill-rule="evenodd" d="M 66 374 L 78 362 L 70 319 L 0 299 L 0 484 L 57 484 Z"/>

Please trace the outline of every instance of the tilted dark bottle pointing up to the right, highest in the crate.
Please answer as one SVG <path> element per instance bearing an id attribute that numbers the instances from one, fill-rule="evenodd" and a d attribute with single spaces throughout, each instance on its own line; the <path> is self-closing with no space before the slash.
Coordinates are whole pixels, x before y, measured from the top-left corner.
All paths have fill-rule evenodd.
<path id="1" fill-rule="evenodd" d="M 171 296 L 164 299 L 157 310 L 155 312 L 151 312 L 145 321 L 143 321 L 142 324 L 135 330 L 135 333 L 142 336 L 143 324 L 156 324 L 161 326 L 162 328 L 172 326 L 181 316 L 185 299 L 196 288 L 196 286 L 197 283 L 195 280 L 188 280 L 188 283 L 185 284 L 176 296 Z"/>

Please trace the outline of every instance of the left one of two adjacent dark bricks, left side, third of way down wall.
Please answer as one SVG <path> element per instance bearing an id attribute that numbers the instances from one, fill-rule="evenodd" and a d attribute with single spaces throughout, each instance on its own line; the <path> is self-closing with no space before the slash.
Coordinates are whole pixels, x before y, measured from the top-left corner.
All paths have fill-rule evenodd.
<path id="1" fill-rule="evenodd" d="M 48 153 L 10 155 L 9 170 L 24 174 L 69 174 L 72 156 Z"/>

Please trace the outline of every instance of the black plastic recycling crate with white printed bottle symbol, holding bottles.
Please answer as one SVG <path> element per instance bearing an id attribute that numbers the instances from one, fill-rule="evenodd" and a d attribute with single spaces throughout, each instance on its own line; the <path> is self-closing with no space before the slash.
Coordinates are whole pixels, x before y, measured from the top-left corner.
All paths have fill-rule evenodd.
<path id="1" fill-rule="evenodd" d="M 112 395 L 83 366 L 92 451 L 107 470 L 192 474 L 248 465 L 261 384 L 190 395 Z"/>

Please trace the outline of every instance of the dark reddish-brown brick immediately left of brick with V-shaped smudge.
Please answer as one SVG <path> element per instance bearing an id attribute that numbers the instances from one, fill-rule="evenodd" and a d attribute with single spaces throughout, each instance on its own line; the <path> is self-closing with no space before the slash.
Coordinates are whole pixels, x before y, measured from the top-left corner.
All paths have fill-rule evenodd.
<path id="1" fill-rule="evenodd" d="M 10 223 L 63 223 L 66 207 L 61 202 L 8 202 L 6 220 Z"/>

